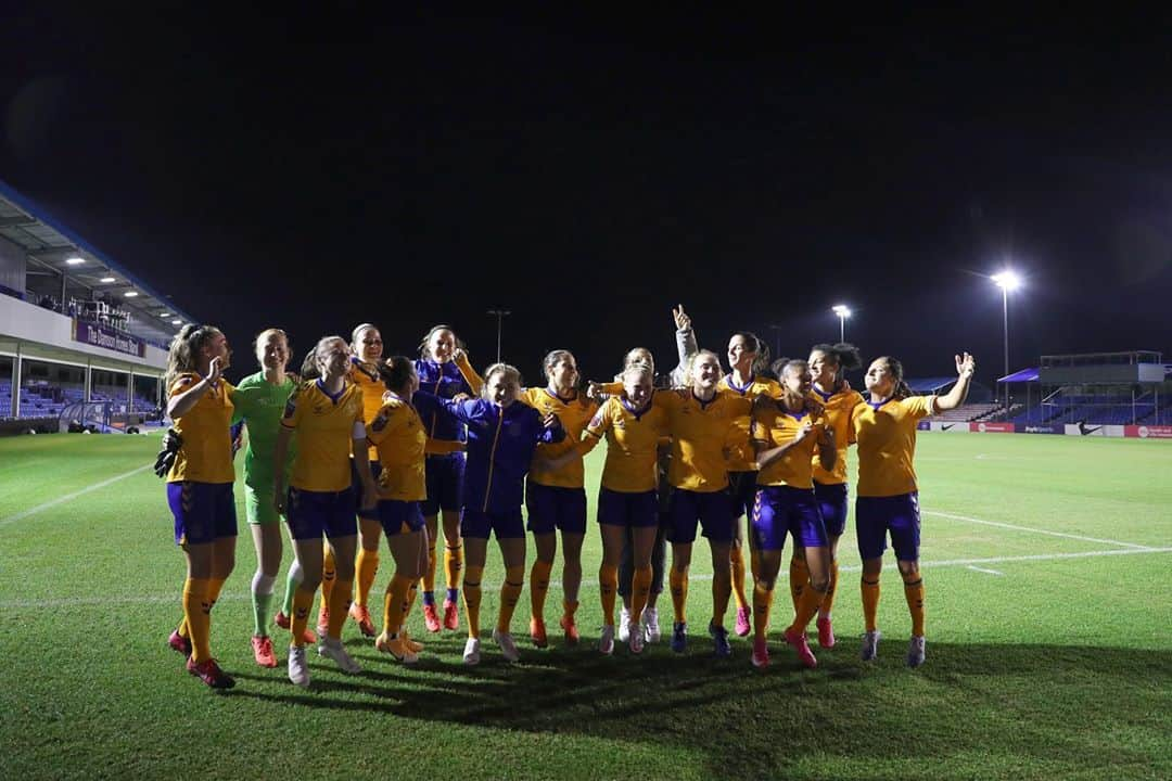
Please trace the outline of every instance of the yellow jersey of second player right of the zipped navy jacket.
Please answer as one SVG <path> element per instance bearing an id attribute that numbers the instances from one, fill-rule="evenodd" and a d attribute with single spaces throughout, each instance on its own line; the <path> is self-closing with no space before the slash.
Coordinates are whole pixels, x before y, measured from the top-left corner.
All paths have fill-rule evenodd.
<path id="1" fill-rule="evenodd" d="M 667 410 L 652 404 L 635 413 L 616 396 L 606 399 L 586 426 L 578 444 L 582 455 L 606 437 L 602 487 L 620 493 L 642 493 L 659 486 L 659 443 L 667 436 Z"/>

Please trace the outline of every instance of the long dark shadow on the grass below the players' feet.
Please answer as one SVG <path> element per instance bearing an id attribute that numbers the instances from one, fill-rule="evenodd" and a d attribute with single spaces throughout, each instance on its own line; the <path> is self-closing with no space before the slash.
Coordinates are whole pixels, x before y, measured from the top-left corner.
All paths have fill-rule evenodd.
<path id="1" fill-rule="evenodd" d="M 1103 734 L 1116 724 L 1164 734 L 1168 719 L 1158 715 L 1166 705 L 1159 692 L 1172 680 L 1172 652 L 1130 649 L 929 643 L 927 664 L 909 670 L 901 642 L 885 642 L 880 659 L 865 664 L 852 638 L 819 650 L 815 671 L 802 670 L 789 649 L 775 645 L 772 665 L 758 671 L 747 646 L 738 644 L 731 660 L 716 660 L 695 637 L 682 656 L 657 645 L 640 657 L 624 646 L 602 657 L 584 638 L 574 650 L 523 649 L 515 665 L 484 640 L 481 665 L 466 667 L 463 638 L 425 639 L 428 652 L 415 666 L 354 640 L 349 650 L 363 665 L 357 676 L 322 663 L 314 665 L 307 691 L 244 685 L 233 696 L 679 746 L 702 753 L 714 773 L 738 776 L 774 775 L 802 767 L 803 758 L 817 756 L 819 767 L 827 758 L 853 767 L 990 751 L 1006 753 L 1006 770 L 1027 761 L 1086 772 L 1151 763 L 1143 741 L 1118 745 Z"/>

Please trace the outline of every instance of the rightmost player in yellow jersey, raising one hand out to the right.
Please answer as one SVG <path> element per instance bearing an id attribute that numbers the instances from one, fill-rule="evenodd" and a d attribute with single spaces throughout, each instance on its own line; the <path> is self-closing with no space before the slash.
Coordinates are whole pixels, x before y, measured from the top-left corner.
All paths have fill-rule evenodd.
<path id="1" fill-rule="evenodd" d="M 912 614 L 912 639 L 907 664 L 924 664 L 924 580 L 920 576 L 920 500 L 915 480 L 915 427 L 929 415 L 965 403 L 976 364 L 968 352 L 955 356 L 956 383 L 946 396 L 912 396 L 904 382 L 904 366 L 890 356 L 871 362 L 866 374 L 867 397 L 851 413 L 858 443 L 859 484 L 854 500 L 854 526 L 863 560 L 861 657 L 874 659 L 881 632 L 879 575 L 891 535 L 895 563 L 904 578 L 904 596 Z"/>

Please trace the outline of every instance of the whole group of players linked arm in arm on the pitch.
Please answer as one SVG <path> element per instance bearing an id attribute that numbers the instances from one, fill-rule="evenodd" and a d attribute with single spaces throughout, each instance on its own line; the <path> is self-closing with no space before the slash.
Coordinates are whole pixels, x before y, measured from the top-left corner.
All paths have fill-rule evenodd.
<path id="1" fill-rule="evenodd" d="M 306 648 L 345 672 L 359 664 L 341 642 L 347 617 L 375 648 L 411 664 L 423 646 L 407 617 L 423 585 L 424 625 L 456 630 L 463 596 L 464 663 L 481 660 L 482 578 L 495 534 L 505 573 L 491 632 L 502 656 L 519 658 L 512 616 L 525 583 L 527 530 L 537 556 L 529 570 L 533 645 L 545 648 L 545 602 L 561 542 L 563 611 L 567 644 L 575 622 L 581 547 L 587 530 L 582 458 L 604 439 L 598 495 L 602 563 L 598 574 L 604 626 L 599 651 L 615 639 L 642 652 L 659 639 L 654 612 L 670 543 L 668 585 L 674 609 L 670 648 L 687 649 L 689 569 L 697 526 L 713 562 L 708 633 L 717 657 L 729 657 L 725 629 L 735 598 L 734 631 L 754 635 L 751 663 L 769 664 L 772 594 L 786 536 L 793 619 L 785 643 L 808 667 L 817 659 L 806 639 L 834 645 L 831 608 L 838 585 L 838 542 L 847 514 L 846 453 L 857 445 L 856 536 L 863 560 L 865 631 L 861 657 L 873 659 L 879 580 L 887 540 L 895 550 L 912 617 L 907 663 L 925 658 L 924 582 L 919 571 L 920 516 L 913 457 L 919 419 L 963 403 L 973 357 L 956 356 L 958 381 L 945 396 L 912 396 L 892 357 L 871 363 L 866 393 L 845 372 L 860 366 L 849 344 L 818 344 L 808 361 L 769 366 L 755 335 L 734 334 L 730 370 L 695 349 L 690 321 L 674 313 L 681 365 L 661 378 L 649 351 L 631 350 L 613 383 L 581 382 L 574 356 L 554 350 L 543 362 L 546 384 L 522 388 L 520 374 L 495 363 L 482 377 L 448 326 L 424 336 L 418 359 L 384 359 L 379 329 L 363 323 L 349 342 L 320 340 L 301 366 L 286 372 L 291 349 L 280 329 L 255 340 L 261 371 L 232 386 L 223 378 L 231 351 L 211 326 L 176 336 L 166 375 L 168 502 L 175 540 L 186 557 L 183 619 L 169 644 L 209 686 L 233 679 L 211 656 L 211 611 L 234 564 L 236 479 L 229 427 L 244 422 L 245 507 L 257 549 L 252 578 L 257 664 L 277 666 L 267 616 L 282 556 L 285 520 L 295 557 L 274 623 L 289 631 L 289 680 L 309 684 Z M 747 519 L 742 526 L 740 519 Z M 441 522 L 442 520 L 442 522 Z M 444 537 L 447 592 L 435 602 L 437 539 Z M 382 537 L 394 560 L 383 596 L 382 629 L 369 610 Z M 745 561 L 752 577 L 745 592 Z M 461 576 L 463 575 L 463 582 Z M 318 591 L 316 635 L 309 615 Z M 615 607 L 622 597 L 619 626 Z"/>

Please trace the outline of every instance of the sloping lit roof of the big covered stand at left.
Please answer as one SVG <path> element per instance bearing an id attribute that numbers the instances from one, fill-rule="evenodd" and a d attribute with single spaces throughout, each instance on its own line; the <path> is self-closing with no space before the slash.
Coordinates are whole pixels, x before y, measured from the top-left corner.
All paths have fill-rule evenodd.
<path id="1" fill-rule="evenodd" d="M 39 266 L 116 300 L 120 308 L 130 313 L 127 330 L 135 336 L 165 345 L 182 323 L 195 322 L 169 296 L 154 290 L 5 181 L 0 181 L 0 237 L 21 247 Z M 82 258 L 86 262 L 70 265 L 67 262 L 70 258 Z M 102 281 L 111 276 L 114 282 Z M 128 292 L 137 295 L 127 297 Z M 175 320 L 180 323 L 173 323 Z"/>

